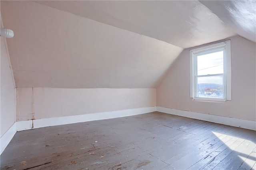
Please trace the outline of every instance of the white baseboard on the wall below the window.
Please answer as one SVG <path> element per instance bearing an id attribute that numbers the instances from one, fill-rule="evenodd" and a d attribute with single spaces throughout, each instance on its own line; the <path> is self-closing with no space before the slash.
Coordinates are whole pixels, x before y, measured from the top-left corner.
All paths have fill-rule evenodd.
<path id="1" fill-rule="evenodd" d="M 256 131 L 256 121 L 237 119 L 233 117 L 224 117 L 224 116 L 218 116 L 218 115 L 210 115 L 205 113 L 197 113 L 197 112 L 184 111 L 184 110 L 178 110 L 178 109 L 170 109 L 170 108 L 159 107 L 159 106 L 156 107 L 156 110 L 159 112 L 168 113 L 172 115 L 210 121 L 210 122 L 230 125 L 234 127 L 242 127 L 244 129 L 250 129 L 250 130 Z"/>

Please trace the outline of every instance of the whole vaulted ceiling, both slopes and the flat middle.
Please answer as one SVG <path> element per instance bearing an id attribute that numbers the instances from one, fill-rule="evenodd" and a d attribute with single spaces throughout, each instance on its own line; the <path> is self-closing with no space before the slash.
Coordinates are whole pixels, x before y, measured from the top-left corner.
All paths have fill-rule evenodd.
<path id="1" fill-rule="evenodd" d="M 17 87 L 155 88 L 184 48 L 236 34 L 255 41 L 255 8 L 253 20 L 224 1 L 0 3 L 14 31 L 7 44 Z"/>

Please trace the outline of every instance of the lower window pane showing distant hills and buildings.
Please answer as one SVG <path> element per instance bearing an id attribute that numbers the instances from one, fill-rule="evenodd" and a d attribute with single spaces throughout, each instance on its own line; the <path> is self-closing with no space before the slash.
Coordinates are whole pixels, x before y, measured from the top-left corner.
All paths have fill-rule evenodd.
<path id="1" fill-rule="evenodd" d="M 197 77 L 197 98 L 224 99 L 223 76 Z"/>

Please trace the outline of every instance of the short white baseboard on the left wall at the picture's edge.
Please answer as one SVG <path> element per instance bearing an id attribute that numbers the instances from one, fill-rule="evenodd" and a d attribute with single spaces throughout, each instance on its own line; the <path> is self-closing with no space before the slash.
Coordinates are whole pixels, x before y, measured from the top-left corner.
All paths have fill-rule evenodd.
<path id="1" fill-rule="evenodd" d="M 7 147 L 7 145 L 10 143 L 10 141 L 12 140 L 12 138 L 14 137 L 16 133 L 16 124 L 14 123 L 9 129 L 8 131 L 6 131 L 6 133 L 4 133 L 4 135 L 2 135 L 2 137 L 0 138 L 0 146 L 1 146 L 1 150 L 0 150 L 0 154 L 2 154 L 2 152 L 4 151 L 4 149 Z"/>

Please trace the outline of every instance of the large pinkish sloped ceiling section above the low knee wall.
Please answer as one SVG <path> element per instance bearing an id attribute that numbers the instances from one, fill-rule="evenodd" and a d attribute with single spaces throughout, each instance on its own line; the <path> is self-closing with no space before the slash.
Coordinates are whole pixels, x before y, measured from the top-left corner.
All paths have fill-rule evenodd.
<path id="1" fill-rule="evenodd" d="M 4 7 L 4 8 L 2 8 Z M 1 1 L 18 87 L 153 88 L 182 48 L 29 1 Z"/>

